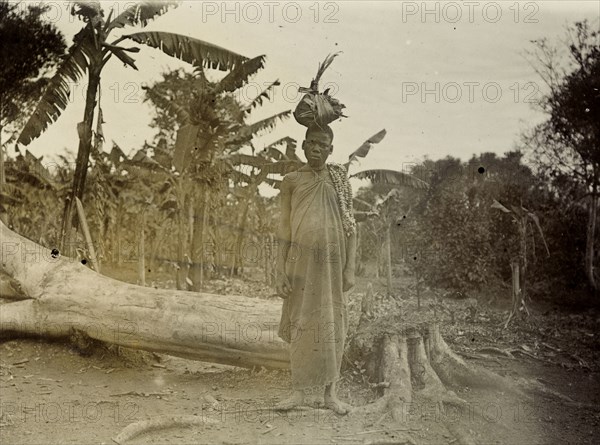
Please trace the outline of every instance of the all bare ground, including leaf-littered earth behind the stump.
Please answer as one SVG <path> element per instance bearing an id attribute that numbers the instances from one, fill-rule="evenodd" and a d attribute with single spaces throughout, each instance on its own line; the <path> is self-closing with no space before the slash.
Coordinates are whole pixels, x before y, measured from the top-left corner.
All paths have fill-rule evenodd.
<path id="1" fill-rule="evenodd" d="M 353 292 L 355 309 L 364 285 Z M 261 287 L 220 286 L 240 293 Z M 414 303 L 410 296 L 388 300 L 383 294 L 378 299 L 384 308 Z M 416 392 L 400 422 L 313 408 L 279 413 L 272 406 L 288 394 L 286 371 L 212 365 L 77 339 L 72 344 L 19 339 L 0 344 L 0 443 L 110 444 L 127 425 L 164 415 L 216 422 L 151 431 L 127 443 L 459 444 L 468 443 L 465 432 L 479 444 L 598 442 L 597 312 L 547 310 L 503 330 L 506 314 L 500 310 L 426 299 L 422 311 L 434 310 L 445 314 L 442 332 L 469 362 L 502 375 L 537 379 L 581 405 L 461 387 L 452 389 L 469 403 L 467 408 L 440 412 Z M 347 363 L 340 382 L 342 400 L 353 405 L 378 396 L 363 365 Z"/>

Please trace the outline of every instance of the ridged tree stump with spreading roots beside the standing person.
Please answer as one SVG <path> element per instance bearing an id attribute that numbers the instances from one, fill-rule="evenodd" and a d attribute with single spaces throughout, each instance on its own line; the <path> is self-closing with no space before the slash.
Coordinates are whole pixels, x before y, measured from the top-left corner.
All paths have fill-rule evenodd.
<path id="1" fill-rule="evenodd" d="M 375 320 L 369 287 L 362 301 L 362 313 L 348 348 L 350 362 L 365 363 L 376 386 L 383 388 L 376 401 L 354 410 L 358 414 L 391 412 L 403 416 L 413 395 L 433 403 L 465 408 L 467 402 L 450 388 L 490 388 L 523 395 L 519 384 L 485 368 L 468 364 L 445 342 L 436 320 L 419 317 L 407 322 L 405 314 L 388 314 Z"/>

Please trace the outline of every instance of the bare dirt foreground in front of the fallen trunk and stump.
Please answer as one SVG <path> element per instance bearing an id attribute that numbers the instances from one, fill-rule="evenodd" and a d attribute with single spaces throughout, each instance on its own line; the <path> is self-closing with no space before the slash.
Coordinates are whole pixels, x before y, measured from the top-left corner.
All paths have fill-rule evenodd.
<path id="1" fill-rule="evenodd" d="M 546 399 L 526 403 L 469 388 L 459 391 L 469 402 L 467 410 L 440 413 L 417 398 L 407 406 L 404 421 L 393 423 L 389 416 L 340 417 L 314 409 L 276 413 L 269 408 L 287 394 L 287 372 L 253 372 L 105 348 L 84 357 L 74 347 L 36 340 L 4 342 L 0 359 L 2 444 L 110 444 L 128 424 L 166 414 L 219 422 L 151 432 L 128 443 L 459 443 L 449 433 L 456 433 L 452 425 L 480 444 L 592 444 L 600 437 L 597 409 Z M 508 359 L 493 361 L 493 367 L 512 376 L 541 378 L 587 404 L 600 402 L 597 373 Z M 340 392 L 357 405 L 375 397 L 351 375 L 344 375 Z"/>

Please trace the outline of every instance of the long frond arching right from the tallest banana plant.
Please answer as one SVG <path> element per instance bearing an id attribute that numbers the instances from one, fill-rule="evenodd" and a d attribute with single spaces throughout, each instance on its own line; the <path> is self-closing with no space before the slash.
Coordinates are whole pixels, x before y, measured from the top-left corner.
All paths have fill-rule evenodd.
<path id="1" fill-rule="evenodd" d="M 125 37 L 160 49 L 165 54 L 192 65 L 220 71 L 232 70 L 248 60 L 247 57 L 212 43 L 170 32 L 136 32 Z"/>

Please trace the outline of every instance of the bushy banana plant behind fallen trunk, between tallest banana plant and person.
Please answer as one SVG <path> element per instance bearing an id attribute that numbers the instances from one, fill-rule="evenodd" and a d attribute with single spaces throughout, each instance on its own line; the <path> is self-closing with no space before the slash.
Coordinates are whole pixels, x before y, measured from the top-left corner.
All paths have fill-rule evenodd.
<path id="1" fill-rule="evenodd" d="M 190 249 L 193 290 L 200 290 L 204 280 L 202 249 L 209 209 L 215 198 L 225 193 L 224 185 L 229 180 L 234 184 L 247 184 L 244 195 L 255 192 L 264 180 L 264 175 L 255 174 L 254 168 L 264 164 L 265 159 L 254 154 L 243 154 L 241 150 L 251 148 L 254 152 L 254 137 L 271 131 L 278 121 L 291 116 L 290 111 L 284 111 L 257 122 L 248 122 L 252 111 L 270 97 L 273 88 L 279 85 L 278 81 L 271 83 L 248 104 L 242 104 L 234 98 L 233 93 L 264 67 L 264 60 L 265 56 L 246 60 L 217 82 L 209 81 L 204 70 L 198 67 L 193 75 L 167 74 L 164 82 L 146 89 L 148 99 L 164 111 L 160 122 L 156 119 L 157 126 L 175 139 L 170 153 L 163 154 L 167 154 L 167 158 L 170 155 L 179 180 L 190 182 L 193 189 L 190 189 L 194 196 L 193 215 L 190 218 L 193 225 L 190 228 L 193 234 Z M 189 90 L 189 94 L 178 95 L 181 89 Z M 165 118 L 164 114 L 171 116 L 171 119 Z M 171 128 L 162 128 L 165 125 Z M 174 128 L 177 130 L 174 131 Z M 250 174 L 246 173 L 248 170 L 251 170 Z M 181 208 L 181 211 L 185 210 Z M 240 242 L 240 236 L 243 237 L 247 212 L 246 209 L 240 214 L 242 226 L 236 235 L 236 244 Z M 235 267 L 236 261 L 233 264 Z"/>

